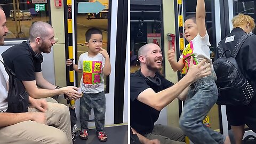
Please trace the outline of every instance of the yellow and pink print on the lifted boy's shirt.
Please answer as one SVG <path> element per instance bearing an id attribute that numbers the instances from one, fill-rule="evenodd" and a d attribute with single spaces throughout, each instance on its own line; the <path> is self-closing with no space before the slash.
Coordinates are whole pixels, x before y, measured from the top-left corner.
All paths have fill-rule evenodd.
<path id="1" fill-rule="evenodd" d="M 188 45 L 186 46 L 186 48 L 183 50 L 182 52 L 182 57 L 183 57 L 183 63 L 185 65 L 185 67 L 183 68 L 182 70 L 182 73 L 186 73 L 188 72 L 188 68 L 189 68 L 189 64 L 190 64 L 190 57 L 193 56 L 194 58 L 194 65 L 197 65 L 198 64 L 198 61 L 195 57 L 195 54 L 194 54 L 194 46 L 193 46 L 193 43 L 192 41 L 190 41 L 188 43 Z"/>

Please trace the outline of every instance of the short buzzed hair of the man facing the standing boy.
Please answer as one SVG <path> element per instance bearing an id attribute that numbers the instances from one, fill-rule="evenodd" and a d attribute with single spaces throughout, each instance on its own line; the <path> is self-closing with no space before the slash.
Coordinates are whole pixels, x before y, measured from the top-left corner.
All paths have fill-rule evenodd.
<path id="1" fill-rule="evenodd" d="M 35 41 L 36 37 L 41 37 L 44 39 L 49 35 L 49 32 L 45 30 L 46 28 L 52 28 L 52 26 L 43 21 L 34 22 L 29 28 L 29 41 Z"/>

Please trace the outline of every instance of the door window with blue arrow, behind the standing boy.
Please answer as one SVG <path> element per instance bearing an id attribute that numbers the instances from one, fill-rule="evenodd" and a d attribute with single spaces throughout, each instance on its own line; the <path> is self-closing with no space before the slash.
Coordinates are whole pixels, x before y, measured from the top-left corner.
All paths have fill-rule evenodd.
<path id="1" fill-rule="evenodd" d="M 85 2 L 83 6 L 89 6 L 90 9 L 79 9 L 84 8 L 77 5 L 78 10 L 76 13 L 76 37 L 77 37 L 77 60 L 82 53 L 88 51 L 88 47 L 85 45 L 85 33 L 88 29 L 95 27 L 102 31 L 102 48 L 108 51 L 108 36 L 110 33 L 110 25 L 108 25 L 110 12 L 108 9 L 109 0 L 87 0 L 87 1 L 76 1 Z M 80 3 L 81 4 L 81 3 Z M 93 6 L 93 7 L 91 7 Z M 88 8 L 88 7 L 87 7 Z M 109 51 L 108 51 L 109 54 Z M 81 79 L 82 74 L 78 73 L 78 79 Z M 108 93 L 109 80 L 107 76 L 104 76 L 105 82 L 105 93 Z"/>

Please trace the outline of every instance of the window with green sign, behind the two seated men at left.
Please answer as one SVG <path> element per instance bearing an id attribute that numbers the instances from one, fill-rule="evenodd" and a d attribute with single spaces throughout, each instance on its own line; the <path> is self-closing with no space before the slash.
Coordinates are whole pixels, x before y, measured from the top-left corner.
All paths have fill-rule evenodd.
<path id="1" fill-rule="evenodd" d="M 36 4 L 33 4 L 31 0 L 16 0 L 15 4 L 11 0 L 5 0 L 1 1 L 0 5 L 6 14 L 9 29 L 6 40 L 10 38 L 28 38 L 29 28 L 35 21 L 50 23 L 50 0 L 45 4 L 40 4 L 38 11 L 35 10 Z"/>

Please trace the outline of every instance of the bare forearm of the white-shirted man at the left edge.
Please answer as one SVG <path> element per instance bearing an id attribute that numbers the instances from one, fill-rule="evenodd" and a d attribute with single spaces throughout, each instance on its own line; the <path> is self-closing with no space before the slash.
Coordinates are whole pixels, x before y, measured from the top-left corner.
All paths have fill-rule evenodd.
<path id="1" fill-rule="evenodd" d="M 0 127 L 17 124 L 23 121 L 31 120 L 32 114 L 28 113 L 0 113 Z"/>

